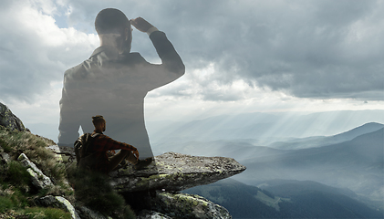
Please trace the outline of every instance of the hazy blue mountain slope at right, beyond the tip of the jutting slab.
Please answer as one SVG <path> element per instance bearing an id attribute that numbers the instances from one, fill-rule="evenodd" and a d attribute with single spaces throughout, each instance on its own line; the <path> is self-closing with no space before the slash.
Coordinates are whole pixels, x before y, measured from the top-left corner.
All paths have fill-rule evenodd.
<path id="1" fill-rule="evenodd" d="M 243 161 L 247 167 L 237 180 L 250 184 L 273 179 L 311 180 L 384 201 L 384 129 L 360 135 L 351 141 L 320 148 Z"/>

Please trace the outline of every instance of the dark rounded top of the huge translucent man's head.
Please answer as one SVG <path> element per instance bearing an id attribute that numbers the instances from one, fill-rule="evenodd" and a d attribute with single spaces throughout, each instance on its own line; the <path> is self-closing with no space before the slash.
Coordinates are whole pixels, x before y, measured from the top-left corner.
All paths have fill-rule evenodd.
<path id="1" fill-rule="evenodd" d="M 130 26 L 130 20 L 119 9 L 106 8 L 95 19 L 95 28 L 99 35 L 121 33 Z"/>

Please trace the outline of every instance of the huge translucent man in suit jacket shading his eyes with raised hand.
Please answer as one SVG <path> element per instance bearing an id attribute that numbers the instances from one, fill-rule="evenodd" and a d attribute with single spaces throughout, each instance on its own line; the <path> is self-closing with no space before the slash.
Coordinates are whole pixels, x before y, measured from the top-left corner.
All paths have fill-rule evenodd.
<path id="1" fill-rule="evenodd" d="M 150 36 L 161 64 L 150 64 L 139 53 L 130 52 L 131 26 Z M 92 132 L 90 118 L 103 115 L 109 137 L 138 148 L 141 159 L 152 157 L 144 98 L 150 90 L 182 77 L 182 58 L 165 34 L 141 17 L 129 20 L 118 9 L 107 8 L 99 12 L 95 27 L 100 47 L 64 75 L 57 144 L 73 146 L 79 126 Z"/>

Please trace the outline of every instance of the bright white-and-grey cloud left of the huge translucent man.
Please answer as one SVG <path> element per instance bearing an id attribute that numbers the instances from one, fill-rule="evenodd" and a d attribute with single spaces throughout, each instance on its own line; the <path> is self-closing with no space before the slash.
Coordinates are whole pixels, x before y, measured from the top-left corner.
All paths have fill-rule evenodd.
<path id="1" fill-rule="evenodd" d="M 50 92 L 53 81 L 62 81 L 67 68 L 92 51 L 89 42 L 83 46 L 77 42 L 85 36 L 55 26 L 55 10 L 53 5 L 29 1 L 0 8 L 0 93 L 5 102 L 34 102 L 38 95 Z"/>

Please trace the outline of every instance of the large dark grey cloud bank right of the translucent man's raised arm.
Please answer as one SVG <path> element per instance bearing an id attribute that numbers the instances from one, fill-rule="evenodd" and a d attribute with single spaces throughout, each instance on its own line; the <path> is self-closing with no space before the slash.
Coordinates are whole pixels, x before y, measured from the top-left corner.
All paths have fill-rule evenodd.
<path id="1" fill-rule="evenodd" d="M 215 80 L 243 78 L 296 97 L 383 99 L 380 2 L 168 3 L 153 5 L 150 18 L 187 68 L 214 63 Z"/>

